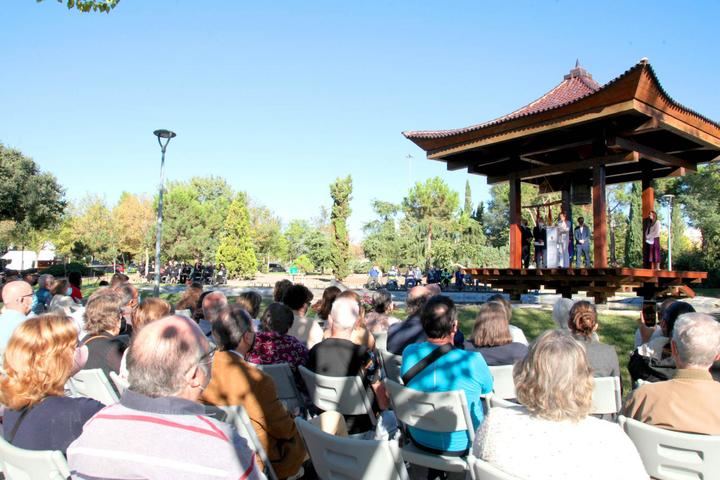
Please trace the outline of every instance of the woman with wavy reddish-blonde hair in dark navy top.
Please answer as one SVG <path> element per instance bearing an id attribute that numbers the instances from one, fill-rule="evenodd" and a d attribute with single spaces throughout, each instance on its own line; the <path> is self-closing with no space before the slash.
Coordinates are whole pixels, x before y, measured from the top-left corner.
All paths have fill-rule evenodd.
<path id="1" fill-rule="evenodd" d="M 26 320 L 10 337 L 0 377 L 5 405 L 3 435 L 16 447 L 65 453 L 103 405 L 64 396 L 68 378 L 80 369 L 75 323 L 48 313 Z"/>

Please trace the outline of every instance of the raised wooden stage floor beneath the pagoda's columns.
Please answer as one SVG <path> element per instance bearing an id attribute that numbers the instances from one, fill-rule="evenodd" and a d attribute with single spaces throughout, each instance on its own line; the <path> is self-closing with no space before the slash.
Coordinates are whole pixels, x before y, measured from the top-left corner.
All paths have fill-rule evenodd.
<path id="1" fill-rule="evenodd" d="M 690 285 L 702 282 L 707 272 L 679 272 L 649 268 L 465 268 L 463 272 L 485 285 L 501 289 L 513 299 L 541 287 L 570 298 L 586 292 L 605 303 L 618 291 L 632 290 L 643 298 L 694 297 Z"/>

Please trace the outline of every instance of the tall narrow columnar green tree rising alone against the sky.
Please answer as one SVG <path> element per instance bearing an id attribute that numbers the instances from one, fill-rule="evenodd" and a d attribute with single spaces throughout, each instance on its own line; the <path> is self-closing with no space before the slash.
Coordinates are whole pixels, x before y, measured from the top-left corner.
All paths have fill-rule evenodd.
<path id="1" fill-rule="evenodd" d="M 347 219 L 350 217 L 350 200 L 352 199 L 352 177 L 337 178 L 330 185 L 330 196 L 333 199 L 330 212 L 332 227 L 332 264 L 335 276 L 342 280 L 350 271 L 350 238 L 347 231 Z"/>

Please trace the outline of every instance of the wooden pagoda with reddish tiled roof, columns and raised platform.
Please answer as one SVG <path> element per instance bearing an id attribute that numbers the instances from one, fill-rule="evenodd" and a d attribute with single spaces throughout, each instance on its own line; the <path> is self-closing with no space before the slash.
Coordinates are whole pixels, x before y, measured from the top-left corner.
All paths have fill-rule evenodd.
<path id="1" fill-rule="evenodd" d="M 576 64 L 559 85 L 508 115 L 465 128 L 403 134 L 429 159 L 445 162 L 448 170 L 485 175 L 489 184 L 510 183 L 510 269 L 505 273 L 515 277 L 515 285 L 520 270 L 527 279 L 513 293 L 552 283 L 550 271 L 521 268 L 521 182 L 539 185 L 544 192 L 562 192 L 567 212 L 575 192 L 592 192 L 594 268 L 584 277 L 594 280 L 565 280 L 571 286 L 560 288 L 563 294 L 583 289 L 604 301 L 622 287 L 622 278 L 629 278 L 626 283 L 648 297 L 661 290 L 661 284 L 664 289 L 706 277 L 703 272 L 658 276 L 646 269 L 621 269 L 622 275 L 614 275 L 608 269 L 605 186 L 640 180 L 645 218 L 654 209 L 653 179 L 685 175 L 720 155 L 720 125 L 674 101 L 646 59 L 602 86 Z M 499 272 L 470 270 L 480 280 Z M 552 276 L 583 278 L 565 270 Z"/>

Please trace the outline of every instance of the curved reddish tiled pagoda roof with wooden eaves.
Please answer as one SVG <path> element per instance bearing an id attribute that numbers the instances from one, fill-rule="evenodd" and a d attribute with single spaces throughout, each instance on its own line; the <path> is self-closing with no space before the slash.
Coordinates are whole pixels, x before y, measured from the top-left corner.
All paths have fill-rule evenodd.
<path id="1" fill-rule="evenodd" d="M 619 166 L 616 178 L 608 178 L 616 183 L 643 169 L 653 177 L 682 174 L 720 155 L 720 125 L 673 100 L 646 59 L 602 86 L 578 63 L 557 86 L 507 115 L 403 135 L 448 169 L 467 167 L 489 181 L 514 174 L 538 183 L 540 176 L 572 171 L 573 162 L 585 161 L 585 168 L 607 156 Z"/>

